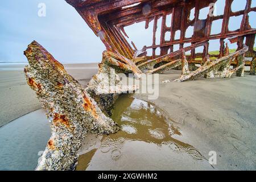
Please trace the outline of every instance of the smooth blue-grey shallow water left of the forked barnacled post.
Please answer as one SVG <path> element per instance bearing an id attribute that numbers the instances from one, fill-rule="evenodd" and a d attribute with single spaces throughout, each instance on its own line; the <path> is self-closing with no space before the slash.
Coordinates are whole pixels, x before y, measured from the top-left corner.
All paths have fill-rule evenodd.
<path id="1" fill-rule="evenodd" d="M 36 168 L 51 137 L 45 113 L 39 109 L 0 127 L 0 171 Z"/>

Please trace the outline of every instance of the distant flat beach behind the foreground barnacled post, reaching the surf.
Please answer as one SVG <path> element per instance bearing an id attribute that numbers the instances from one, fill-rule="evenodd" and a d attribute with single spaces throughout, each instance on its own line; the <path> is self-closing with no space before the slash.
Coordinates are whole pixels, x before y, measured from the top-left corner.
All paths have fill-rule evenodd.
<path id="1" fill-rule="evenodd" d="M 35 92 L 27 85 L 24 65 L 26 64 L 0 64 L 0 127 L 42 107 Z M 98 70 L 97 63 L 64 64 L 64 67 L 82 85 L 86 85 Z"/>

